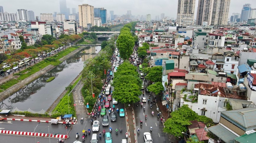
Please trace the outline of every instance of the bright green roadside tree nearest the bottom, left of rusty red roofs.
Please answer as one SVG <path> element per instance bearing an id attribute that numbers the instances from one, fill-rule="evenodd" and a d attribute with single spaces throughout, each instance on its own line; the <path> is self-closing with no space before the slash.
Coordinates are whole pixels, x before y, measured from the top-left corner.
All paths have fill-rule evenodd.
<path id="1" fill-rule="evenodd" d="M 186 126 L 191 125 L 190 121 L 195 120 L 197 117 L 196 112 L 191 110 L 188 105 L 183 105 L 179 110 L 171 113 L 171 118 L 168 118 L 164 123 L 163 131 L 174 135 L 175 137 L 182 137 L 182 132 L 186 132 Z"/>

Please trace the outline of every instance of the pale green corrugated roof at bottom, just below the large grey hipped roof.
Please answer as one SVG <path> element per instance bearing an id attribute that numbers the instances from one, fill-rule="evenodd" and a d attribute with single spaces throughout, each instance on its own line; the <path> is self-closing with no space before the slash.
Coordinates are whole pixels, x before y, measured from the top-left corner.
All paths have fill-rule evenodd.
<path id="1" fill-rule="evenodd" d="M 230 132 L 229 130 L 227 130 L 226 128 L 222 127 L 219 124 L 209 127 L 208 130 L 226 143 L 234 143 L 234 138 L 237 137 L 232 132 Z"/>

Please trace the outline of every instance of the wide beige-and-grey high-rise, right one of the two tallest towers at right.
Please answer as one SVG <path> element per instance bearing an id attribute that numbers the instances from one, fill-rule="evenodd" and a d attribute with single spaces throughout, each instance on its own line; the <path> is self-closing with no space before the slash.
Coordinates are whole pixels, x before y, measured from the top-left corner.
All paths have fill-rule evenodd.
<path id="1" fill-rule="evenodd" d="M 230 0 L 199 0 L 196 23 L 202 25 L 226 25 L 228 22 Z"/>

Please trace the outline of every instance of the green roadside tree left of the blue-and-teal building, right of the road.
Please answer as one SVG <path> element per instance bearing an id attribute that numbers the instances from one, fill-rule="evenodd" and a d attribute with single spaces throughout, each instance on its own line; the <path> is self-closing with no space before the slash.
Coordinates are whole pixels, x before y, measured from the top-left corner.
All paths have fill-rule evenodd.
<path id="1" fill-rule="evenodd" d="M 162 66 L 152 67 L 145 78 L 152 82 L 162 82 L 162 69 Z"/>

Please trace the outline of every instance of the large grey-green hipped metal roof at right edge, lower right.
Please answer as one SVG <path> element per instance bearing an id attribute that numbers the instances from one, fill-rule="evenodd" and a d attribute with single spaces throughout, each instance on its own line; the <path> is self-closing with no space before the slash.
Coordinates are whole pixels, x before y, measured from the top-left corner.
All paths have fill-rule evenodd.
<path id="1" fill-rule="evenodd" d="M 221 117 L 229 120 L 234 125 L 246 128 L 244 131 L 256 129 L 256 107 L 223 111 Z M 241 128 L 241 127 L 240 127 Z M 241 128 L 242 129 L 242 128 Z"/>

